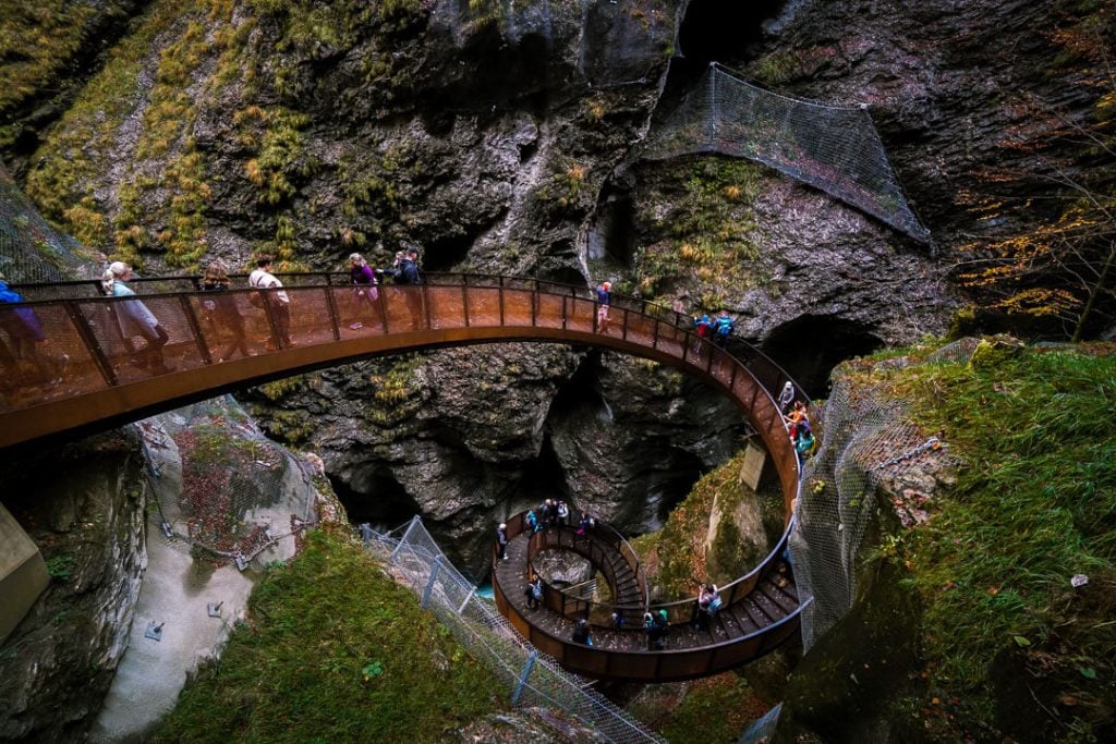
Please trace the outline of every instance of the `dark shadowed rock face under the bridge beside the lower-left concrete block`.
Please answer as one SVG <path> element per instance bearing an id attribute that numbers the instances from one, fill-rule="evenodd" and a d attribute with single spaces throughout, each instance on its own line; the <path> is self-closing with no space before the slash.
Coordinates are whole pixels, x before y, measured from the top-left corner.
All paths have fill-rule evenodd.
<path id="1" fill-rule="evenodd" d="M 0 650 L 0 738 L 76 741 L 124 655 L 147 563 L 143 461 L 113 434 L 2 467 L 4 504 L 54 580 Z"/>

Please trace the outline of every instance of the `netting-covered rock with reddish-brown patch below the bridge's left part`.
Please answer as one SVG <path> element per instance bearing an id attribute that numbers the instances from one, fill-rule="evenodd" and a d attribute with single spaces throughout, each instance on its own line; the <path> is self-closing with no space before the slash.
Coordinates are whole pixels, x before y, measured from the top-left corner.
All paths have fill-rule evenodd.
<path id="1" fill-rule="evenodd" d="M 235 562 L 294 555 L 317 523 L 320 462 L 264 437 L 229 399 L 217 398 L 136 424 L 165 537 L 202 558 Z"/>

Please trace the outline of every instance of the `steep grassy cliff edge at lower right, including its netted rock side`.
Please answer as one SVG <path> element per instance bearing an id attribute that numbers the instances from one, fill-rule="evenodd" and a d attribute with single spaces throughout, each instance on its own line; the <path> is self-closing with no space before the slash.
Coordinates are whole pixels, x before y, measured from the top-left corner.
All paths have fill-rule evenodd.
<path id="1" fill-rule="evenodd" d="M 1109 738 L 1112 348 L 937 347 L 836 375 L 776 741 Z"/>

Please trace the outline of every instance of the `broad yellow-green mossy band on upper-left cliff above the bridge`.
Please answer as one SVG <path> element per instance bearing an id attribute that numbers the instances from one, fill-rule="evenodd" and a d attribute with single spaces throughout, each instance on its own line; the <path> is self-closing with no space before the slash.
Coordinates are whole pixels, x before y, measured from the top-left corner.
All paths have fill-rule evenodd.
<path id="1" fill-rule="evenodd" d="M 86 244 L 114 245 L 114 258 L 133 264 L 142 265 L 143 251 L 162 249 L 172 265 L 196 268 L 210 192 L 201 155 L 185 136 L 195 117 L 189 86 L 215 49 L 208 28 L 227 23 L 231 15 L 229 0 L 193 0 L 185 7 L 163 0 L 151 7 L 37 154 L 42 165 L 28 174 L 27 191 L 47 216 Z M 154 83 L 140 100 L 138 73 L 153 49 L 158 49 Z M 118 156 L 124 123 L 140 106 L 140 137 L 121 180 L 119 211 L 109 220 L 94 190 L 108 158 Z M 152 167 L 154 161 L 161 165 Z M 165 226 L 152 234 L 151 224 Z"/>

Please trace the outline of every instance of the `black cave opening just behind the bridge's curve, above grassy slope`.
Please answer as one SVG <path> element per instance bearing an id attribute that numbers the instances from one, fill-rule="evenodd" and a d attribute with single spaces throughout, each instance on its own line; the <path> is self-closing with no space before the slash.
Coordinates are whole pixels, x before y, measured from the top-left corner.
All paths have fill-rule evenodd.
<path id="1" fill-rule="evenodd" d="M 810 397 L 829 393 L 829 375 L 841 361 L 872 354 L 884 341 L 864 323 L 806 315 L 781 323 L 760 346 Z"/>

